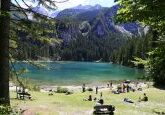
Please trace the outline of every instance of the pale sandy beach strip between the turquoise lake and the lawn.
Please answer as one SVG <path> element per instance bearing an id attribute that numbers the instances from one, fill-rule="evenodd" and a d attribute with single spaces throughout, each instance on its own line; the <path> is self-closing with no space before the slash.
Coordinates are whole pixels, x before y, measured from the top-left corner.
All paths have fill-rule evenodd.
<path id="1" fill-rule="evenodd" d="M 110 83 L 110 82 L 107 82 Z M 100 84 L 85 84 L 86 90 L 89 88 L 92 88 L 93 91 L 95 91 L 96 87 L 98 87 L 99 90 L 116 90 L 118 86 L 122 85 L 123 82 L 121 81 L 116 81 L 112 82 L 112 87 L 108 87 L 106 83 L 100 83 Z M 147 81 L 131 81 L 129 83 L 131 87 L 136 87 L 136 88 L 148 88 L 153 86 L 153 82 L 147 82 Z M 136 86 L 137 85 L 137 86 Z M 72 92 L 80 92 L 82 91 L 82 85 L 41 85 L 40 86 L 40 92 L 49 92 L 50 90 L 52 91 L 57 91 L 57 88 L 66 88 L 68 91 Z"/>

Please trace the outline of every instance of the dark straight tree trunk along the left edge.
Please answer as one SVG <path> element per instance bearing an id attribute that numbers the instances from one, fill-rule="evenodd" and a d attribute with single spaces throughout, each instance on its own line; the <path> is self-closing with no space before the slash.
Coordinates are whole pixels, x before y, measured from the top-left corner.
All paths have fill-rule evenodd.
<path id="1" fill-rule="evenodd" d="M 10 0 L 1 0 L 0 14 L 0 105 L 10 105 L 9 98 L 9 31 Z"/>

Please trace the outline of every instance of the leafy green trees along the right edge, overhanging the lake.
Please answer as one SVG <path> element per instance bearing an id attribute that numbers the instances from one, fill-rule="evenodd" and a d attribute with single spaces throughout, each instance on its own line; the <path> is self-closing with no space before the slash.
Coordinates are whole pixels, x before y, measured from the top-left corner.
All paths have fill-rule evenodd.
<path id="1" fill-rule="evenodd" d="M 165 84 L 165 1 L 164 0 L 116 0 L 121 9 L 118 11 L 119 22 L 137 21 L 143 26 L 150 26 L 152 31 L 152 50 L 149 53 L 149 78 L 155 85 Z"/>

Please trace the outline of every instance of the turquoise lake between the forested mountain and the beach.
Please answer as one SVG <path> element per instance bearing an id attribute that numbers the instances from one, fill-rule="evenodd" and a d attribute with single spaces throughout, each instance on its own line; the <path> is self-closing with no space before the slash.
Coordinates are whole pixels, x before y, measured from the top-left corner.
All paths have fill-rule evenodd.
<path id="1" fill-rule="evenodd" d="M 111 63 L 95 62 L 42 62 L 46 68 L 37 68 L 24 62 L 15 63 L 16 69 L 22 67 L 28 72 L 21 77 L 54 85 L 81 85 L 110 80 L 136 80 L 143 76 L 143 70 Z"/>

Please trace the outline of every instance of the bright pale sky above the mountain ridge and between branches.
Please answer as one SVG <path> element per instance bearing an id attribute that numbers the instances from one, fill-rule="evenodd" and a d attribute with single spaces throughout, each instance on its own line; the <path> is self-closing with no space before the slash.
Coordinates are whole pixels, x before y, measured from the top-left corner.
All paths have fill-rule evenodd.
<path id="1" fill-rule="evenodd" d="M 13 2 L 15 0 L 12 0 Z M 21 4 L 22 7 L 25 7 L 25 4 L 23 2 L 21 2 L 21 0 L 17 0 L 19 2 L 19 4 Z M 32 3 L 30 1 L 32 0 L 25 0 L 27 2 L 28 5 L 31 5 L 31 6 L 36 6 L 35 3 Z M 56 0 L 56 1 L 64 1 L 64 0 Z M 114 0 L 68 0 L 67 2 L 64 2 L 64 3 L 56 3 L 58 9 L 57 10 L 63 10 L 63 9 L 66 9 L 66 8 L 72 8 L 72 7 L 75 7 L 75 6 L 78 6 L 78 5 L 92 5 L 94 6 L 95 4 L 100 4 L 101 6 L 103 7 L 111 7 L 113 6 L 115 3 L 114 3 Z"/>

